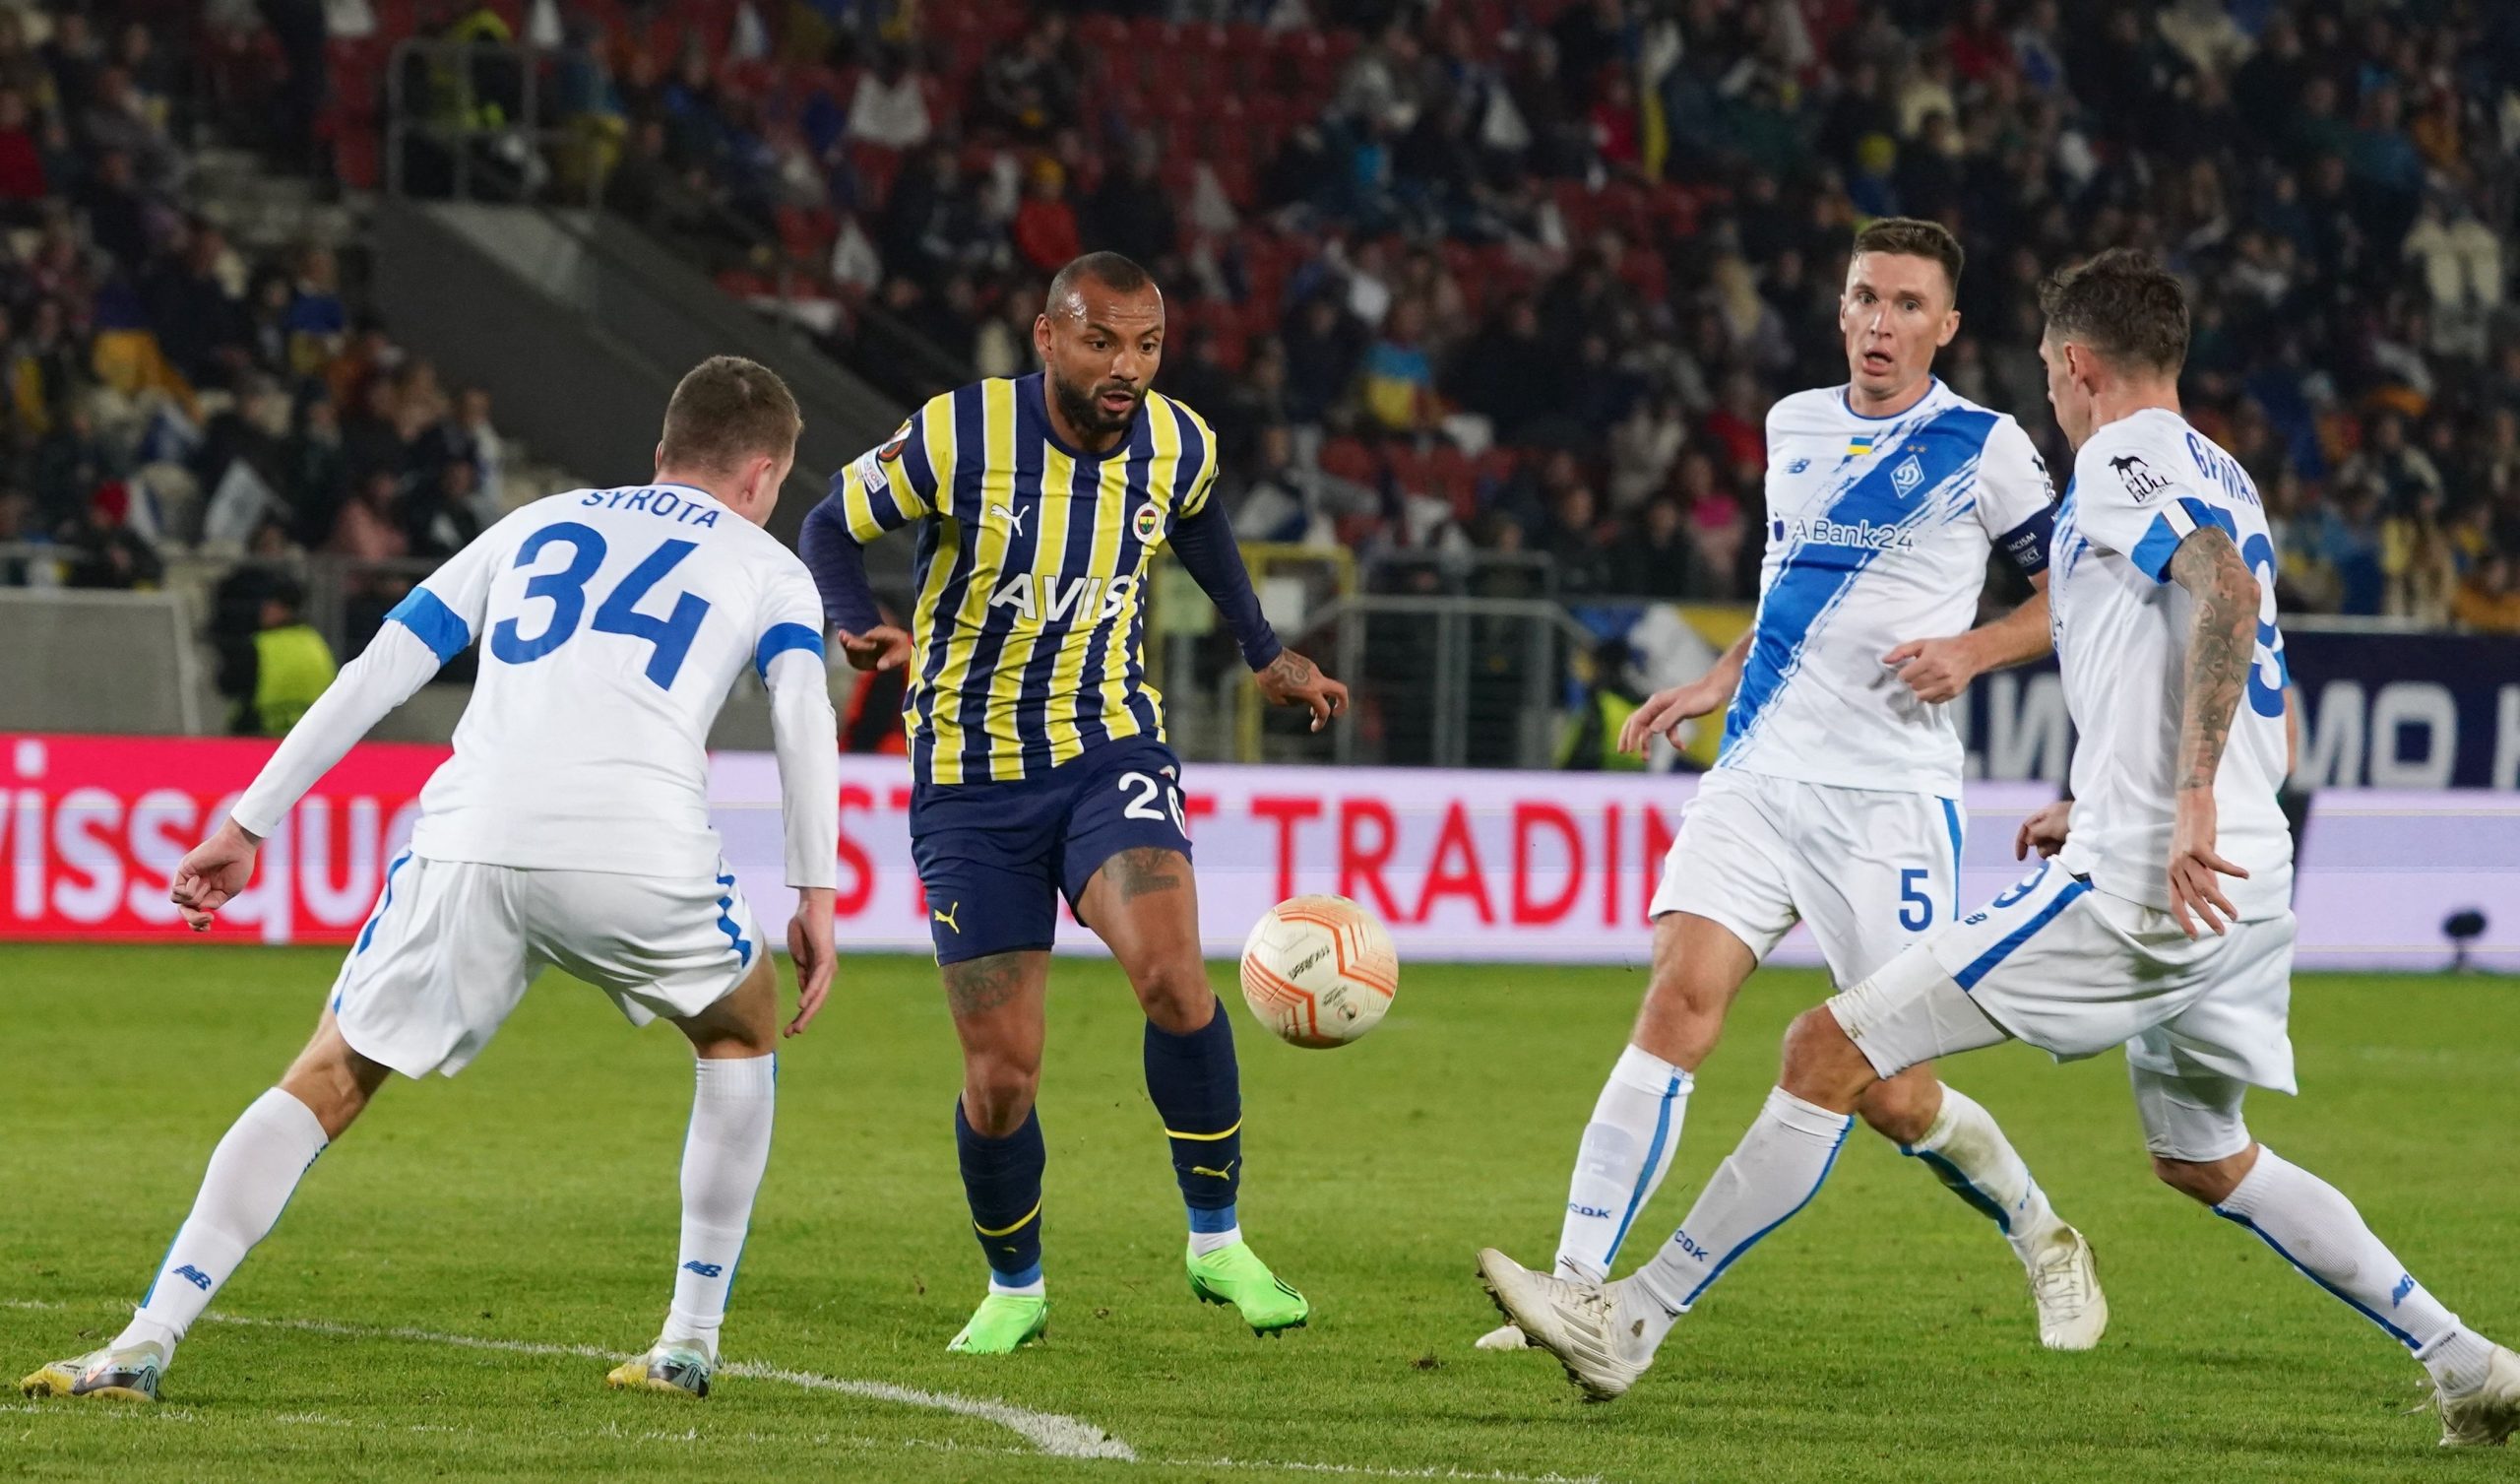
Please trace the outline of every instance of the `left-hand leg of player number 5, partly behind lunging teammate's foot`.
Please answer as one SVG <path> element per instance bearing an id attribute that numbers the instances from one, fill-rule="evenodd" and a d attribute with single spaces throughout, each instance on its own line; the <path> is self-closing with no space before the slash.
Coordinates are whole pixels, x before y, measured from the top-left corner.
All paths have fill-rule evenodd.
<path id="1" fill-rule="evenodd" d="M 1671 1172 L 1696 1068 L 1724 1036 L 1724 1015 L 1754 967 L 1759 960 L 1749 945 L 1711 917 L 1663 912 L 1653 920 L 1646 1003 L 1575 1146 L 1557 1227 L 1557 1277 L 1603 1282 L 1610 1275 L 1628 1227 Z M 1520 1350 L 1527 1343 L 1515 1325 L 1479 1335 L 1482 1350 Z"/>

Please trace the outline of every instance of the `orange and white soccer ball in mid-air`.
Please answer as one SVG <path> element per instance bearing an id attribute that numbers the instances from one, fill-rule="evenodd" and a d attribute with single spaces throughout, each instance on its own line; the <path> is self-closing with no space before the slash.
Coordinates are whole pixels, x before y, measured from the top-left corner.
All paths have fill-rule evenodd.
<path id="1" fill-rule="evenodd" d="M 1293 897 L 1242 940 L 1242 998 L 1293 1046 L 1346 1046 L 1373 1030 L 1401 988 L 1391 932 L 1346 897 Z"/>

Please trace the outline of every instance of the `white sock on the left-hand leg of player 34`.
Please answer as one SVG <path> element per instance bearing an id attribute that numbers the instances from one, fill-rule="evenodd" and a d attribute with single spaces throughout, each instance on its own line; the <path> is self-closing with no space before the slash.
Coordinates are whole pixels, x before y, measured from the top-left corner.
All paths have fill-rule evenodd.
<path id="1" fill-rule="evenodd" d="M 192 1320 L 280 1219 L 323 1146 L 323 1124 L 295 1096 L 270 1088 L 255 1099 L 212 1149 L 202 1194 L 113 1348 L 156 1343 L 171 1358 Z"/>

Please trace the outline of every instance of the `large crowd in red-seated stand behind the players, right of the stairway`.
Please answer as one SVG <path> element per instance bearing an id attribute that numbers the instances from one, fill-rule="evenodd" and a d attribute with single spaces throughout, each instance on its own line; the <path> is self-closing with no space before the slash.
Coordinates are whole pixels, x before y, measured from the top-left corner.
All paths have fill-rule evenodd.
<path id="1" fill-rule="evenodd" d="M 559 93 L 620 141 L 615 209 L 751 222 L 905 398 L 1021 370 L 1048 270 L 1111 247 L 1169 287 L 1164 385 L 1247 537 L 1545 552 L 1575 597 L 1754 592 L 1761 413 L 1845 378 L 1860 219 L 1961 232 L 1943 375 L 2051 464 L 2034 285 L 2142 244 L 2288 607 L 2520 627 L 2505 5 L 1131 10 L 741 8 L 713 68 L 562 3 Z"/>

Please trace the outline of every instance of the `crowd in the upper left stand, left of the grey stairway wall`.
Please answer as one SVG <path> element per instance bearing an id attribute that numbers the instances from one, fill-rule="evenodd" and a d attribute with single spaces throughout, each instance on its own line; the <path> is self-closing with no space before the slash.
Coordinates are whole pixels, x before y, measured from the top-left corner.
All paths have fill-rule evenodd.
<path id="1" fill-rule="evenodd" d="M 194 81 L 141 15 L 0 8 L 0 585 L 252 554 L 229 640 L 295 612 L 290 557 L 456 552 L 501 509 L 501 441 L 353 315 L 330 247 L 219 227 Z"/>

